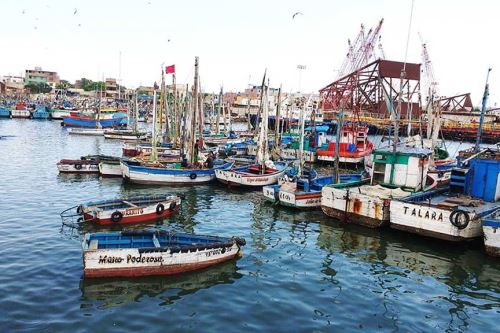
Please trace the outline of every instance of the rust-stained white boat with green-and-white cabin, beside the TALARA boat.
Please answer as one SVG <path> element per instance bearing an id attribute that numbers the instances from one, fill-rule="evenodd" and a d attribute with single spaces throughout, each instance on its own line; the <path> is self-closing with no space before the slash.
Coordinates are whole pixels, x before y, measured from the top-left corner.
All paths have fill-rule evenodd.
<path id="1" fill-rule="evenodd" d="M 397 147 L 373 151 L 370 185 L 323 187 L 323 212 L 346 223 L 378 228 L 389 224 L 390 203 L 415 192 L 431 190 L 436 182 L 427 176 L 432 152 L 425 148 Z"/>

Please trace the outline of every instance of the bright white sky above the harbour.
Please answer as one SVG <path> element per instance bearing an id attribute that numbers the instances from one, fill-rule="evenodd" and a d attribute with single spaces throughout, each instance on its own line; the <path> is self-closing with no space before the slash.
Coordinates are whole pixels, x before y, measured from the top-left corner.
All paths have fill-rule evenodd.
<path id="1" fill-rule="evenodd" d="M 205 92 L 260 84 L 316 92 L 334 81 L 363 23 L 384 18 L 386 59 L 404 61 L 411 0 L 2 0 L 0 75 L 41 66 L 74 82 L 121 78 L 135 88 L 176 65 L 193 81 L 199 57 Z M 295 12 L 297 15 L 292 18 Z M 471 92 L 480 105 L 488 67 L 490 107 L 500 107 L 500 1 L 414 0 L 407 61 L 427 43 L 439 93 Z M 121 56 L 120 56 L 121 55 Z M 121 64 L 121 66 L 120 66 Z M 297 65 L 306 69 L 299 74 Z M 120 70 L 121 68 L 121 70 Z M 121 74 L 121 75 L 120 75 Z M 498 105 L 497 105 L 498 104 Z"/>

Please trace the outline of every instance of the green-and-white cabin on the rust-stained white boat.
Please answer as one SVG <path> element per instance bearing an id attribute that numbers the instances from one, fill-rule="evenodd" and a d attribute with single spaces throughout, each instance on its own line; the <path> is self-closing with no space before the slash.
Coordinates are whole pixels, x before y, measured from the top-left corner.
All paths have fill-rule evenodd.
<path id="1" fill-rule="evenodd" d="M 402 187 L 411 191 L 423 189 L 432 151 L 419 147 L 392 147 L 372 152 L 373 168 L 371 184 L 387 187 Z"/>

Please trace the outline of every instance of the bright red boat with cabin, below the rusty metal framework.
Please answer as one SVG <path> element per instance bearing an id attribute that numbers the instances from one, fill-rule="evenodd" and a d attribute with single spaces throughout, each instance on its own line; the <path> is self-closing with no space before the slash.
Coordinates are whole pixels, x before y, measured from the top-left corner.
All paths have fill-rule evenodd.
<path id="1" fill-rule="evenodd" d="M 318 160 L 333 162 L 336 143 L 329 142 L 323 147 L 316 151 Z M 368 140 L 368 127 L 355 124 L 342 126 L 338 149 L 341 163 L 362 164 L 373 150 L 373 143 Z"/>

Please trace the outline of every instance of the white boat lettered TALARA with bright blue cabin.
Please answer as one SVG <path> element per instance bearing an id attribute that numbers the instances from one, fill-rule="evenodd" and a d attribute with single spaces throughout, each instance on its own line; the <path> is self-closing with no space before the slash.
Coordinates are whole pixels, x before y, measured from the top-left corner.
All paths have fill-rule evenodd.
<path id="1" fill-rule="evenodd" d="M 483 235 L 483 218 L 500 209 L 500 152 L 460 154 L 467 165 L 452 171 L 450 187 L 391 202 L 391 228 L 448 241 Z"/>

